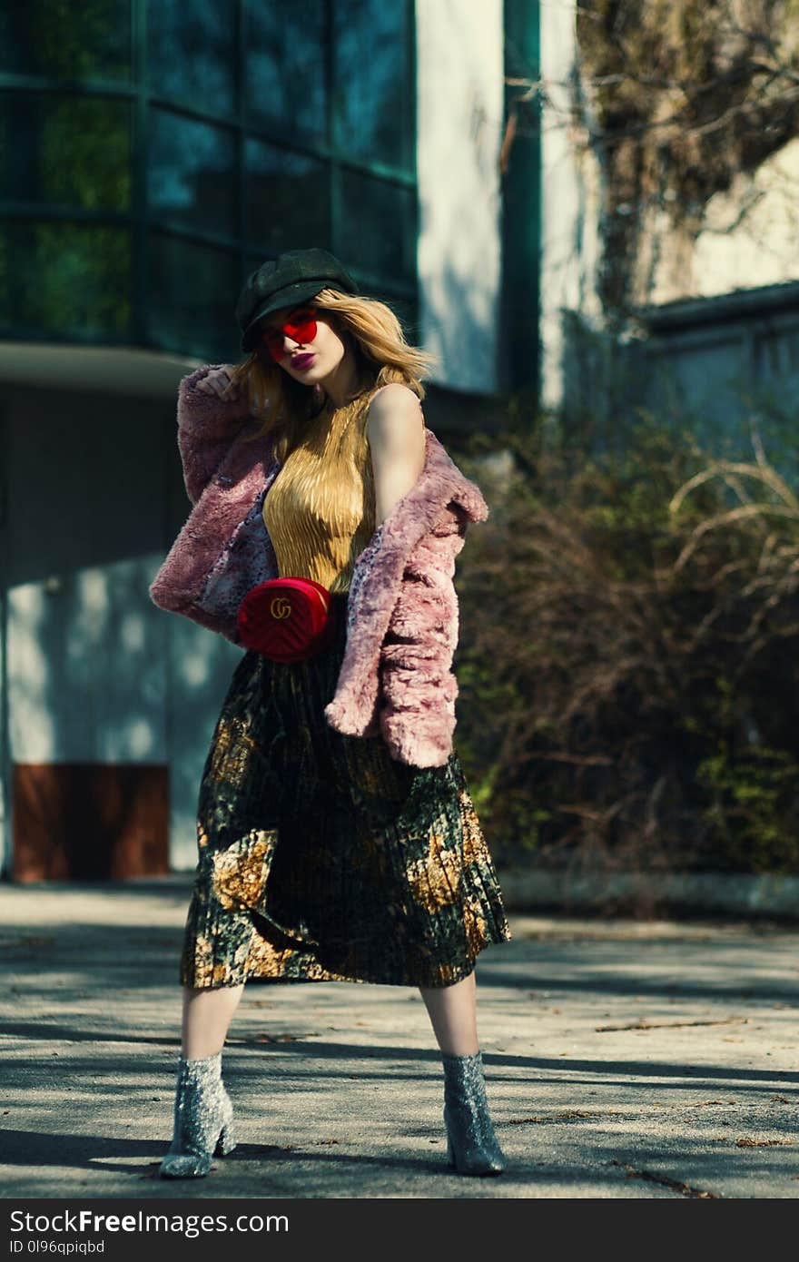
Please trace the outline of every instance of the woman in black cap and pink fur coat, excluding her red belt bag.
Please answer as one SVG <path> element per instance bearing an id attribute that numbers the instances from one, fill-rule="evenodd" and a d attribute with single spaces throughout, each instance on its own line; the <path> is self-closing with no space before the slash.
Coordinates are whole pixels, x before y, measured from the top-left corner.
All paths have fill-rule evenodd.
<path id="1" fill-rule="evenodd" d="M 486 505 L 425 430 L 427 357 L 332 255 L 264 264 L 236 316 L 244 362 L 181 386 L 194 507 L 151 596 L 241 644 L 242 598 L 299 577 L 331 593 L 332 637 L 288 663 L 247 651 L 222 707 L 160 1174 L 206 1175 L 234 1147 L 221 1051 L 247 979 L 418 986 L 442 1051 L 448 1160 L 499 1174 L 473 963 L 510 934 L 452 750 L 449 669 L 454 558 Z"/>

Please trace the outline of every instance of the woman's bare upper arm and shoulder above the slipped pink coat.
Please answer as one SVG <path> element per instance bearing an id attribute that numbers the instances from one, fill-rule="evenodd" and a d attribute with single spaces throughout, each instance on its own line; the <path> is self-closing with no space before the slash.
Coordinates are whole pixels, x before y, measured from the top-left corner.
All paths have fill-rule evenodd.
<path id="1" fill-rule="evenodd" d="M 375 473 L 376 525 L 417 483 L 424 467 L 424 418 L 415 394 L 391 384 L 369 406 L 366 434 Z"/>

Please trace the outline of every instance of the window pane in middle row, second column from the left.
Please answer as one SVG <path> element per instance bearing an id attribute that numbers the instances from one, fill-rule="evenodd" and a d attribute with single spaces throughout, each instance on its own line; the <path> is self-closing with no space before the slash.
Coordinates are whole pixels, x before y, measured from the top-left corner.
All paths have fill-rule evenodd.
<path id="1" fill-rule="evenodd" d="M 148 198 L 154 215 L 235 232 L 232 135 L 167 110 L 151 110 Z"/>

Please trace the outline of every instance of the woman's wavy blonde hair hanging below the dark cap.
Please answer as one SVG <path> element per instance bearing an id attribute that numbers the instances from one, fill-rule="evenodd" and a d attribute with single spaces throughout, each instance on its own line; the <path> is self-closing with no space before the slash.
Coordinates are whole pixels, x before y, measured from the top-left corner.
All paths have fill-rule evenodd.
<path id="1" fill-rule="evenodd" d="M 322 289 L 309 305 L 329 313 L 337 332 L 351 338 L 358 361 L 356 399 L 390 381 L 399 381 L 424 399 L 422 379 L 429 372 L 433 356 L 405 341 L 403 326 L 390 307 L 338 289 Z M 245 387 L 252 415 L 263 419 L 252 437 L 274 435 L 275 453 L 285 459 L 305 422 L 319 411 L 318 392 L 294 381 L 257 351 L 237 365 L 234 379 Z"/>

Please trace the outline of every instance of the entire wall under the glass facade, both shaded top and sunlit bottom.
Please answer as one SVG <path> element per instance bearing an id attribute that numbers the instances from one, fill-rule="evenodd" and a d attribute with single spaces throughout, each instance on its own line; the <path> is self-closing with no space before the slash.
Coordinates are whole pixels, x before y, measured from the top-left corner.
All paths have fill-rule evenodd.
<path id="1" fill-rule="evenodd" d="M 167 764 L 169 859 L 192 868 L 199 777 L 241 652 L 149 599 L 189 510 L 174 400 L 16 387 L 4 432 L 9 764 Z"/>

